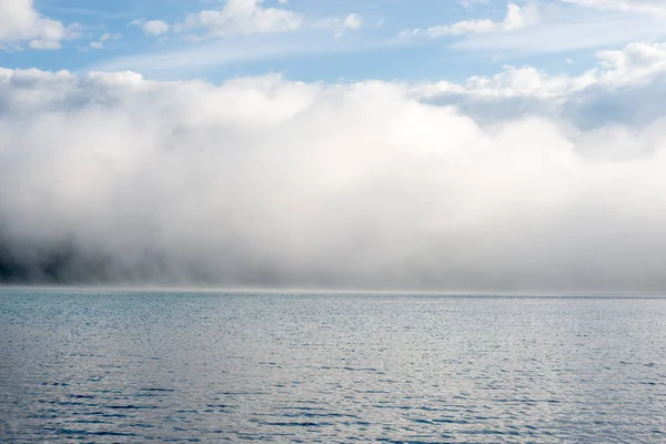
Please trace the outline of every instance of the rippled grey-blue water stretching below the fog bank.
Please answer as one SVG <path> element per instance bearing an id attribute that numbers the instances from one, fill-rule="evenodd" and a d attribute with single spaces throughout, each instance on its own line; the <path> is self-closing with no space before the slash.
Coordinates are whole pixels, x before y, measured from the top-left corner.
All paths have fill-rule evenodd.
<path id="1" fill-rule="evenodd" d="M 666 442 L 666 300 L 0 291 L 0 442 Z"/>

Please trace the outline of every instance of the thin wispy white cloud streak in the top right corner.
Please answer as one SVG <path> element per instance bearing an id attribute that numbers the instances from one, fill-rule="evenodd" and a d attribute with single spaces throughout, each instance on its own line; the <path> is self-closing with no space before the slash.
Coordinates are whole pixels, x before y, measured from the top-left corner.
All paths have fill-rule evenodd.
<path id="1" fill-rule="evenodd" d="M 468 19 L 405 30 L 398 38 L 417 41 L 448 37 L 446 44 L 452 50 L 507 57 L 596 50 L 666 36 L 663 11 L 666 2 L 662 0 L 508 3 L 502 21 Z"/>

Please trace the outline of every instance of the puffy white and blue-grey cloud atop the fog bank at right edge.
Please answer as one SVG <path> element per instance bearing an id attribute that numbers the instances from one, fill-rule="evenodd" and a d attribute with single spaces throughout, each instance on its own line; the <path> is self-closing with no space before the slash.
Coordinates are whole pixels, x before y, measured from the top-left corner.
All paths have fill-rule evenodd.
<path id="1" fill-rule="evenodd" d="M 465 83 L 436 82 L 413 94 L 438 104 L 456 104 L 478 121 L 496 122 L 541 115 L 573 128 L 610 123 L 645 125 L 664 117 L 666 46 L 632 43 L 599 51 L 599 65 L 579 75 L 549 75 L 533 67 L 505 67 L 491 77 Z"/>

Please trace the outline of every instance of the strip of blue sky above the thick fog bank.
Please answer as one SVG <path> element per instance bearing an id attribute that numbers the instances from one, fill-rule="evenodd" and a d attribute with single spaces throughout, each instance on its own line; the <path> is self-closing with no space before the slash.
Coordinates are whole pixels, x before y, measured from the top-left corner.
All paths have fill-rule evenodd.
<path id="1" fill-rule="evenodd" d="M 505 64 L 579 73 L 594 65 L 596 51 L 666 34 L 660 1 L 586 1 L 516 0 L 512 4 L 524 22 L 506 27 L 505 0 L 243 0 L 238 3 L 252 9 L 250 14 L 274 9 L 299 23 L 258 31 L 251 18 L 241 17 L 226 32 L 231 24 L 224 21 L 208 29 L 201 23 L 178 29 L 189 14 L 224 13 L 230 9 L 224 0 L 37 0 L 33 10 L 73 28 L 71 36 L 60 41 L 59 50 L 31 50 L 29 38 L 4 38 L 6 46 L 16 48 L 0 52 L 0 65 L 132 70 L 159 80 L 220 81 L 280 72 L 293 80 L 326 82 L 462 81 Z M 357 19 L 352 27 L 344 23 L 350 14 Z M 169 29 L 151 34 L 137 20 L 159 20 Z M 492 21 L 495 29 L 432 32 L 471 21 Z"/>

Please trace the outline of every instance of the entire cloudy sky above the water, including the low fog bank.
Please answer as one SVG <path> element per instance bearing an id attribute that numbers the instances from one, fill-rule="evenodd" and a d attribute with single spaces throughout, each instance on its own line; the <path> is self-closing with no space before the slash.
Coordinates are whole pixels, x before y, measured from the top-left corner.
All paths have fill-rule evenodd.
<path id="1" fill-rule="evenodd" d="M 663 0 L 0 0 L 0 281 L 666 291 Z"/>

